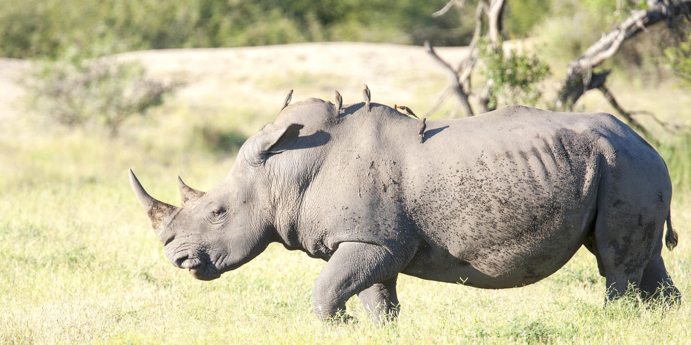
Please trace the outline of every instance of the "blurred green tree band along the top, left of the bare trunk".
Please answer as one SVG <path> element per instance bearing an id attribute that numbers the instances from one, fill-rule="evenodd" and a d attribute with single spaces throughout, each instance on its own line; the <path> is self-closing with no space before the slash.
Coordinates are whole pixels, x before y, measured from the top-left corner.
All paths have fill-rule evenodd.
<path id="1" fill-rule="evenodd" d="M 465 43 L 458 16 L 433 18 L 446 0 L 26 0 L 4 1 L 0 56 L 59 57 L 97 41 L 117 52 L 260 46 L 304 41 Z M 453 30 L 451 30 L 453 29 Z M 464 34 L 465 32 L 465 34 Z M 459 34 L 461 33 L 461 34 Z"/>

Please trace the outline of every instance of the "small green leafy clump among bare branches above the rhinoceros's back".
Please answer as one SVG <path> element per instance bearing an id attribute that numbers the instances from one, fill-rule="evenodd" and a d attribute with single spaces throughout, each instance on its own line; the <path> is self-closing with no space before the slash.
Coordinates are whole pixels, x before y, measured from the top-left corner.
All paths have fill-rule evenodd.
<path id="1" fill-rule="evenodd" d="M 549 76 L 549 65 L 540 61 L 537 55 L 526 55 L 512 49 L 507 56 L 500 42 L 493 48 L 486 40 L 478 42 L 480 59 L 484 66 L 480 73 L 489 81 L 487 104 L 489 109 L 498 103 L 522 103 L 535 106 L 540 100 L 538 83 Z"/>

